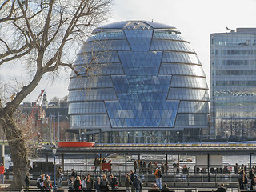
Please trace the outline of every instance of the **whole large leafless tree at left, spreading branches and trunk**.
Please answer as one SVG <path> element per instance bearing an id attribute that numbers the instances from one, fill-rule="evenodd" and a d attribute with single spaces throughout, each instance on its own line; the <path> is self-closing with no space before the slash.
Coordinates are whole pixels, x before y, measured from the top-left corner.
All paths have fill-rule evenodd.
<path id="1" fill-rule="evenodd" d="M 92 28 L 106 21 L 110 5 L 111 0 L 0 1 L 0 66 L 26 66 L 30 77 L 10 82 L 6 93 L 12 96 L 1 95 L 0 126 L 14 162 L 14 186 L 22 186 L 29 167 L 26 140 L 14 121 L 15 110 L 46 74 L 58 75 L 63 66 L 79 75 L 72 66 L 70 55 L 76 50 L 71 47 L 78 47 Z M 90 70 L 88 67 L 86 73 Z"/>

